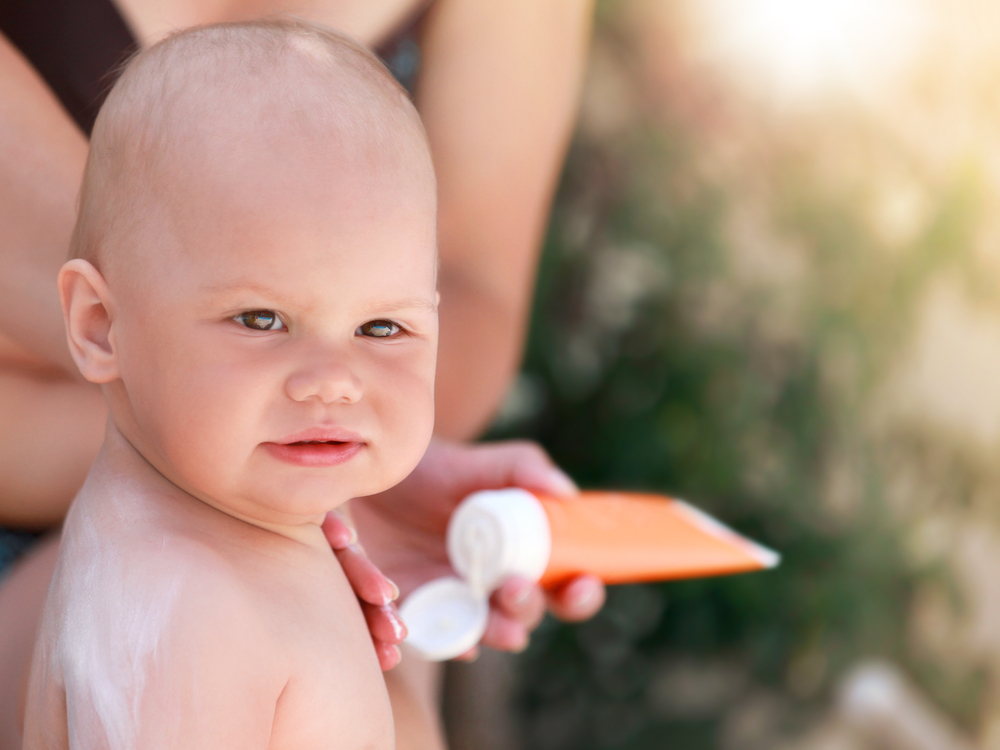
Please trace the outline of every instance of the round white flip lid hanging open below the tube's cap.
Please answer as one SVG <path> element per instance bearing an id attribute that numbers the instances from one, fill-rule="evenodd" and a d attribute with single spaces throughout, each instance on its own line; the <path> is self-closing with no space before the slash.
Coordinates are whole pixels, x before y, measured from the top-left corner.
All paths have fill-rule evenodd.
<path id="1" fill-rule="evenodd" d="M 479 643 L 489 614 L 489 601 L 452 577 L 425 583 L 399 608 L 406 642 L 428 661 L 454 659 Z"/>

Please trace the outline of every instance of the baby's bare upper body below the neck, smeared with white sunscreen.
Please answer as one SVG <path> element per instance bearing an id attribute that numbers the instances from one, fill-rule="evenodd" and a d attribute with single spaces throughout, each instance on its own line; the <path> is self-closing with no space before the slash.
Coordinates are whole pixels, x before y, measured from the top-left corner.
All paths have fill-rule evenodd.
<path id="1" fill-rule="evenodd" d="M 193 498 L 93 485 L 64 529 L 26 750 L 393 746 L 368 629 L 329 548 Z"/>

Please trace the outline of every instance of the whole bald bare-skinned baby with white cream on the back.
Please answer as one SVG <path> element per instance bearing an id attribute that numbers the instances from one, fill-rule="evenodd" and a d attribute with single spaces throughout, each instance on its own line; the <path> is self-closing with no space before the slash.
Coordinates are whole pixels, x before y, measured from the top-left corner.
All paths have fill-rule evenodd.
<path id="1" fill-rule="evenodd" d="M 25 748 L 390 748 L 320 524 L 430 439 L 435 183 L 416 111 L 304 22 L 139 54 L 59 290 L 107 435 L 63 530 Z"/>

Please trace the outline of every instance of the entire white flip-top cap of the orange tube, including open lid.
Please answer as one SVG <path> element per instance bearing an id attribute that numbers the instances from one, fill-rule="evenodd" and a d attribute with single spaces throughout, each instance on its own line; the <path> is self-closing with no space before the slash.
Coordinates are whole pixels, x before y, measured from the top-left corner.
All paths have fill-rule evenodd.
<path id="1" fill-rule="evenodd" d="M 537 581 L 551 549 L 548 516 L 530 492 L 469 495 L 448 523 L 448 557 L 465 580 L 438 578 L 407 597 L 399 610 L 406 642 L 428 661 L 464 654 L 486 631 L 490 593 L 511 575 Z"/>

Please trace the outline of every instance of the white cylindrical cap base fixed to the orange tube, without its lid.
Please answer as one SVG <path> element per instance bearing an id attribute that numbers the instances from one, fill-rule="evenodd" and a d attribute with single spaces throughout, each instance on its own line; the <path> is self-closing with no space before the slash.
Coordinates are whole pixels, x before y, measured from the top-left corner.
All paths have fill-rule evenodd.
<path id="1" fill-rule="evenodd" d="M 537 581 L 551 551 L 542 504 L 516 487 L 469 495 L 448 523 L 452 567 L 474 590 L 487 594 L 512 575 Z"/>

